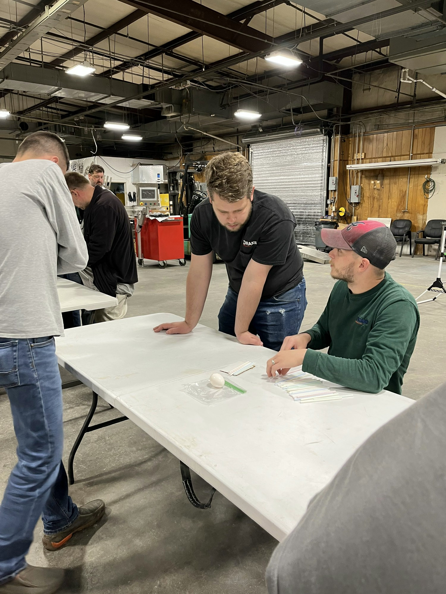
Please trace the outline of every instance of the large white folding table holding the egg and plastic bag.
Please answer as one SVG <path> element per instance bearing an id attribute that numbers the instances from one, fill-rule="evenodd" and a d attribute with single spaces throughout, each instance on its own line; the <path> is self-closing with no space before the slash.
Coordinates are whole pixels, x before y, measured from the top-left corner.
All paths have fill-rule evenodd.
<path id="1" fill-rule="evenodd" d="M 266 376 L 269 349 L 202 325 L 184 335 L 153 333 L 157 324 L 180 319 L 124 318 L 56 339 L 59 364 L 93 390 L 83 430 L 92 429 L 99 394 L 278 540 L 356 448 L 413 403 L 347 388 L 340 390 L 351 399 L 294 402 Z M 256 363 L 234 380 L 246 394 L 206 406 L 182 391 L 237 361 Z M 183 484 L 193 500 L 184 475 Z"/>

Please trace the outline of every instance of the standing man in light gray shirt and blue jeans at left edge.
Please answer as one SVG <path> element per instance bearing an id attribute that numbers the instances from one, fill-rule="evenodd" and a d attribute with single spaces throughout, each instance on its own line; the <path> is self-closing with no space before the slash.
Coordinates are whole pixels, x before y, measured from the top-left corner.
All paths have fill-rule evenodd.
<path id="1" fill-rule="evenodd" d="M 25 555 L 42 515 L 55 551 L 104 513 L 78 508 L 62 464 L 62 388 L 54 336 L 63 333 L 56 275 L 82 270 L 87 247 L 64 173 L 68 151 L 51 132 L 30 134 L 0 165 L 0 387 L 10 401 L 17 464 L 0 505 L 0 594 L 55 592 L 64 572 Z"/>

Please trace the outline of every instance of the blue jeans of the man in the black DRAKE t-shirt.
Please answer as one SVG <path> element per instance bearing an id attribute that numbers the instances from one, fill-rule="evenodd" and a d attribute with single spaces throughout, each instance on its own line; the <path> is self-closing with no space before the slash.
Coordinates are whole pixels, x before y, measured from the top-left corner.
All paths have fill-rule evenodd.
<path id="1" fill-rule="evenodd" d="M 235 336 L 235 312 L 237 293 L 231 287 L 218 314 L 218 330 Z M 249 325 L 252 334 L 258 334 L 267 349 L 280 350 L 286 336 L 297 334 L 307 307 L 305 298 L 305 279 L 299 285 L 283 293 L 260 301 L 257 311 Z"/>

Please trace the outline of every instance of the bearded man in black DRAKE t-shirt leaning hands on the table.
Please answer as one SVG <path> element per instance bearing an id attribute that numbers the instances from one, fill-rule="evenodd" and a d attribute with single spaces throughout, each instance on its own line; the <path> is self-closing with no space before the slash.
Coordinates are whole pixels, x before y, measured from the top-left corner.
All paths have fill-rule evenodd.
<path id="1" fill-rule="evenodd" d="M 306 307 L 296 219 L 280 198 L 253 188 L 251 166 L 240 153 L 213 157 L 206 183 L 209 198 L 194 209 L 190 221 L 186 319 L 154 330 L 187 334 L 198 324 L 215 252 L 229 277 L 219 330 L 243 345 L 279 350 L 285 336 L 299 330 Z"/>

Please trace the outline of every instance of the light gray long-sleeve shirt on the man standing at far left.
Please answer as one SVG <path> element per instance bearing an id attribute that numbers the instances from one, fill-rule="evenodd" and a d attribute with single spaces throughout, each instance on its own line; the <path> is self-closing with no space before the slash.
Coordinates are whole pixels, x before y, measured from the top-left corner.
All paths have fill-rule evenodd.
<path id="1" fill-rule="evenodd" d="M 88 260 L 70 191 L 52 161 L 0 165 L 0 336 L 64 333 L 57 274 Z"/>

